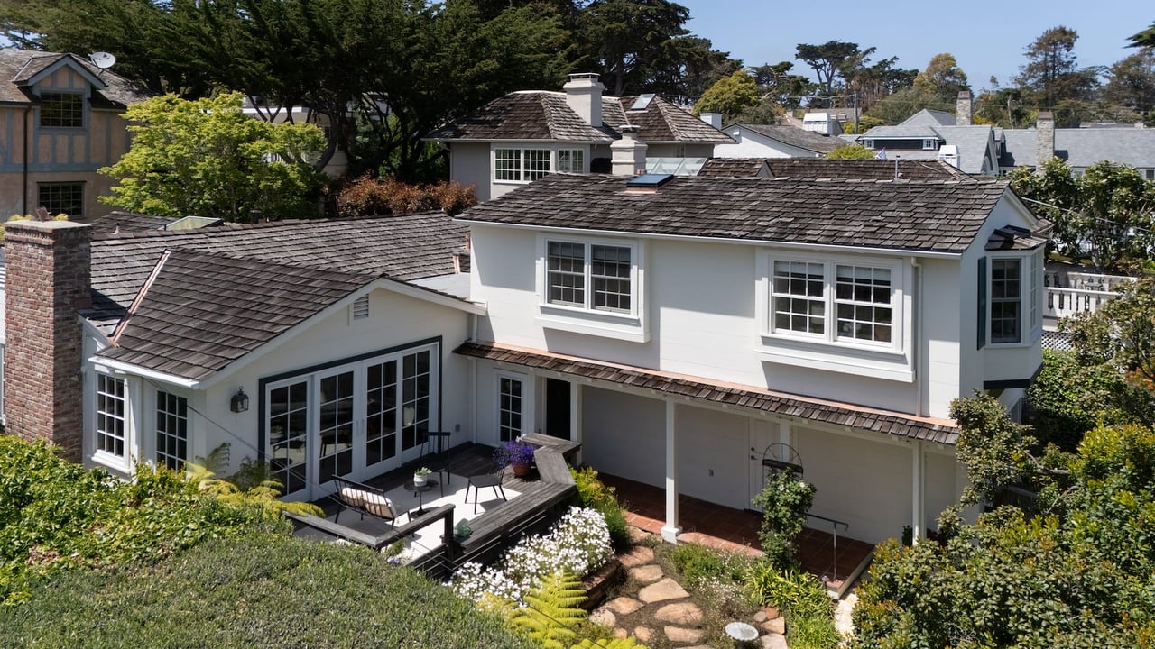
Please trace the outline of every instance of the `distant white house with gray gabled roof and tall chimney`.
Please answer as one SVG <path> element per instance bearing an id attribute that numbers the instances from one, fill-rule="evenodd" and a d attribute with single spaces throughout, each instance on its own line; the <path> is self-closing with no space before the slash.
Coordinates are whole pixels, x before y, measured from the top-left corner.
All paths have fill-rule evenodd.
<path id="1" fill-rule="evenodd" d="M 957 118 L 924 109 L 896 126 L 875 126 L 856 140 L 867 149 L 885 149 L 888 159 L 941 159 L 964 173 L 998 176 L 996 129 L 970 122 L 970 91 L 959 92 L 957 106 Z"/>

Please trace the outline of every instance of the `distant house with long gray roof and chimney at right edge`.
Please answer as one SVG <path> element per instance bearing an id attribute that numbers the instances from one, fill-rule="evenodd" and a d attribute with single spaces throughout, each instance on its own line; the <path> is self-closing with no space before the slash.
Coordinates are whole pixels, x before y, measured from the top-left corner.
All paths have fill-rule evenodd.
<path id="1" fill-rule="evenodd" d="M 1055 128 L 1055 115 L 1041 112 L 1035 128 L 1000 132 L 999 171 L 1035 167 L 1040 158 L 1056 156 L 1082 173 L 1102 161 L 1128 164 L 1147 180 L 1155 180 L 1155 128 Z"/>

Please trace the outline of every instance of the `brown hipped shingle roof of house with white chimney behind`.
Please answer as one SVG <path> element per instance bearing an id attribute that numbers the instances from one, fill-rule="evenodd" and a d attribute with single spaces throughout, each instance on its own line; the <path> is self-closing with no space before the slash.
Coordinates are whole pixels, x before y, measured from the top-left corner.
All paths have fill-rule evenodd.
<path id="1" fill-rule="evenodd" d="M 685 110 L 655 97 L 646 110 L 631 111 L 635 97 L 602 97 L 602 127 L 594 128 L 566 103 L 565 92 L 522 90 L 493 99 L 447 124 L 429 140 L 557 140 L 609 143 L 624 125 L 638 126 L 644 142 L 731 142 L 730 137 Z"/>

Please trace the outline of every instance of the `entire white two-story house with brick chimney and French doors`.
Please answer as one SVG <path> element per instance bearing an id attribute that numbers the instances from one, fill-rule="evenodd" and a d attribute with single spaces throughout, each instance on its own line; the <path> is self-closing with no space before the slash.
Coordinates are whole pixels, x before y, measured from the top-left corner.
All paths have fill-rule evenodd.
<path id="1" fill-rule="evenodd" d="M 848 536 L 921 535 L 966 482 L 951 401 L 1041 366 L 1037 225 L 1000 181 L 604 174 L 456 219 L 14 223 L 7 425 L 119 475 L 231 442 L 305 499 L 427 431 L 544 432 L 664 487 L 666 538 L 776 462 Z"/>

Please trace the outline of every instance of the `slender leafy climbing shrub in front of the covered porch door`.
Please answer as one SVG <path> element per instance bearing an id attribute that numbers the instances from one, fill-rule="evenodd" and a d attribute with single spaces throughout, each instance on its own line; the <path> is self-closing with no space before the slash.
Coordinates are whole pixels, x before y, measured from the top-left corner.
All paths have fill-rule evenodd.
<path id="1" fill-rule="evenodd" d="M 766 486 L 753 499 L 762 510 L 762 527 L 758 531 L 762 552 L 778 568 L 797 562 L 795 537 L 806 522 L 814 492 L 814 485 L 793 471 L 774 471 L 766 477 Z"/>

